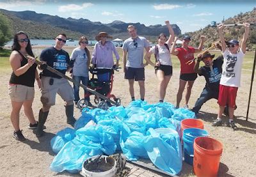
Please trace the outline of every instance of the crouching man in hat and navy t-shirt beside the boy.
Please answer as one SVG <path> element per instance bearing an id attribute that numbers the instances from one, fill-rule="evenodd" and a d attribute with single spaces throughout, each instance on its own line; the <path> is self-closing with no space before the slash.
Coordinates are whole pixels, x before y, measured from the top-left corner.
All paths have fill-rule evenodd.
<path id="1" fill-rule="evenodd" d="M 198 113 L 207 100 L 210 100 L 211 98 L 218 100 L 223 56 L 219 56 L 212 61 L 213 58 L 214 55 L 211 55 L 210 52 L 199 54 L 196 65 L 194 66 L 194 71 L 200 76 L 204 75 L 206 81 L 205 88 L 203 89 L 200 98 L 196 100 L 195 107 L 191 110 L 195 113 Z M 199 68 L 200 61 L 204 61 L 205 66 Z"/>

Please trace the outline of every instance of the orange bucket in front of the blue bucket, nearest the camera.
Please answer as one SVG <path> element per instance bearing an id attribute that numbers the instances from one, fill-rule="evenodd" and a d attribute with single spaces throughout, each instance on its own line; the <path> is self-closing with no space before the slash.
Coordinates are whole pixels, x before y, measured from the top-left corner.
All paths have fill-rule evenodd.
<path id="1" fill-rule="evenodd" d="M 223 146 L 211 137 L 196 137 L 193 168 L 198 177 L 216 177 Z"/>

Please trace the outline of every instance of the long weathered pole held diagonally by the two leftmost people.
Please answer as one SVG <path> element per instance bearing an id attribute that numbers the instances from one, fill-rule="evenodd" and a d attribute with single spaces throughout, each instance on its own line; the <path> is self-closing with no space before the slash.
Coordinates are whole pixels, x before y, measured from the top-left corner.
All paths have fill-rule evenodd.
<path id="1" fill-rule="evenodd" d="M 43 63 L 41 61 L 38 61 L 36 58 L 33 58 L 32 56 L 29 56 L 29 54 L 26 54 L 24 56 L 26 59 L 35 59 L 35 63 L 37 65 L 42 65 Z M 101 95 L 100 93 L 98 93 L 97 91 L 94 91 L 93 89 L 90 89 L 90 88 L 87 88 L 86 86 L 84 86 L 83 84 L 81 84 L 80 82 L 77 82 L 75 81 L 74 79 L 68 77 L 67 75 L 61 73 L 61 72 L 58 72 L 58 70 L 55 70 L 54 68 L 52 68 L 51 66 L 48 66 L 46 67 L 46 70 L 49 70 L 50 72 L 53 72 L 53 73 L 56 73 L 57 75 L 59 75 L 60 77 L 64 78 L 64 79 L 67 79 L 68 81 L 70 82 L 73 82 L 74 84 L 76 84 L 77 86 L 80 86 L 81 88 L 84 88 L 86 89 L 87 91 L 89 91 L 90 93 L 93 93 L 93 95 L 97 95 L 99 96 L 100 98 L 110 102 L 111 104 L 113 105 L 116 105 L 118 106 L 119 104 L 117 104 L 116 102 L 110 100 L 109 98 L 107 98 L 106 96 L 104 95 Z"/>

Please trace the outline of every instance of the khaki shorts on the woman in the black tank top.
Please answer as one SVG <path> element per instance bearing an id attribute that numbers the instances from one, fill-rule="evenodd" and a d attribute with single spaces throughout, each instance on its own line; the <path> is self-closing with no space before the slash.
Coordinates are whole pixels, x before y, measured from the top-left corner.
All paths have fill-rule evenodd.
<path id="1" fill-rule="evenodd" d="M 33 87 L 9 85 L 8 89 L 12 102 L 24 102 L 26 100 L 33 100 L 35 97 L 35 89 Z"/>

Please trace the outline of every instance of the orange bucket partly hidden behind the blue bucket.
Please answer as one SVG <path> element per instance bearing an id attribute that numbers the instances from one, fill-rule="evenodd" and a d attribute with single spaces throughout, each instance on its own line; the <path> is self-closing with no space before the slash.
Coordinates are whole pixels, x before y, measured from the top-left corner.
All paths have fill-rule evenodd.
<path id="1" fill-rule="evenodd" d="M 183 144 L 183 130 L 186 128 L 200 128 L 204 130 L 204 122 L 200 119 L 183 119 L 181 121 L 181 144 Z"/>

